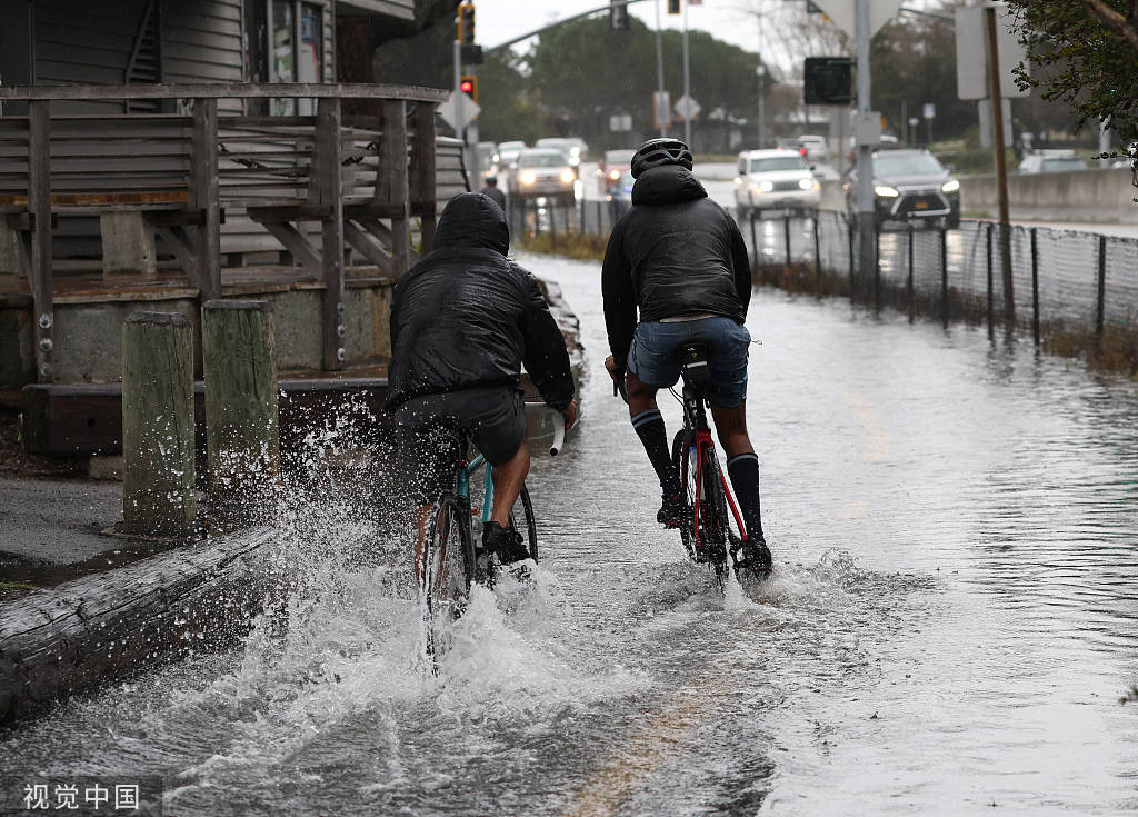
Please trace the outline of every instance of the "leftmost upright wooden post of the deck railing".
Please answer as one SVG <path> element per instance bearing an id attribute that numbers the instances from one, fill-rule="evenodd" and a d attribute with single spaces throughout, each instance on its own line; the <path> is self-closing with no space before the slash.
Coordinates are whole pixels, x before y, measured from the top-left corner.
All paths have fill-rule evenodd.
<path id="1" fill-rule="evenodd" d="M 27 104 L 27 211 L 32 216 L 28 283 L 35 320 L 35 373 L 55 380 L 55 302 L 51 294 L 51 102 Z"/>

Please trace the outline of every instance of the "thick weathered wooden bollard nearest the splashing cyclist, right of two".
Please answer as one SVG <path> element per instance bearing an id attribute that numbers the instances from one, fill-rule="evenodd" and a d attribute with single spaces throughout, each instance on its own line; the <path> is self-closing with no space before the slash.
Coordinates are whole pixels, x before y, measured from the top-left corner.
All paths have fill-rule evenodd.
<path id="1" fill-rule="evenodd" d="M 264 300 L 209 300 L 201 308 L 209 498 L 237 510 L 280 473 L 273 313 Z"/>

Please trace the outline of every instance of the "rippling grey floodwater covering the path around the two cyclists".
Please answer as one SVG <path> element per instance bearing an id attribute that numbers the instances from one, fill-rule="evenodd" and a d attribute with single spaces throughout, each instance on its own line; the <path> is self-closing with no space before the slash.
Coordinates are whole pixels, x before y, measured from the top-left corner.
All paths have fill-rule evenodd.
<path id="1" fill-rule="evenodd" d="M 1135 383 L 757 291 L 777 567 L 721 597 L 653 521 L 597 266 L 522 261 L 588 362 L 579 434 L 535 459 L 531 585 L 478 592 L 430 677 L 398 526 L 325 474 L 274 514 L 287 636 L 0 733 L 5 773 L 162 775 L 167 815 L 1138 811 Z"/>

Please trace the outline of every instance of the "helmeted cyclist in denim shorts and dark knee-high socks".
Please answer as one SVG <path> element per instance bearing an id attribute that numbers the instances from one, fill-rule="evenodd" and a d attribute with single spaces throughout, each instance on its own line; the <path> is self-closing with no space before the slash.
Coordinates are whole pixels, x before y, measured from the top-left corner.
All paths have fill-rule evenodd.
<path id="1" fill-rule="evenodd" d="M 735 220 L 692 175 L 692 154 L 682 141 L 649 140 L 633 156 L 632 173 L 633 208 L 612 229 L 601 275 L 612 353 L 604 364 L 615 380 L 624 378 L 633 428 L 660 479 L 657 520 L 678 527 L 684 507 L 655 394 L 679 379 L 678 349 L 704 344 L 708 403 L 751 545 L 743 561 L 769 567 L 759 460 L 747 432 L 747 245 Z"/>

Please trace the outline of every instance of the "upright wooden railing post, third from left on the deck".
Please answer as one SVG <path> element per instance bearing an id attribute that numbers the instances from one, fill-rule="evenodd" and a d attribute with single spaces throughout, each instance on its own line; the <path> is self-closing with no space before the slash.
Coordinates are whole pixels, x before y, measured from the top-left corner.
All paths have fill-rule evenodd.
<path id="1" fill-rule="evenodd" d="M 316 133 L 312 157 L 310 195 L 323 208 L 320 264 L 324 298 L 321 313 L 323 364 L 327 371 L 344 368 L 347 333 L 344 315 L 344 178 L 340 174 L 340 100 L 322 97 L 316 101 Z"/>

